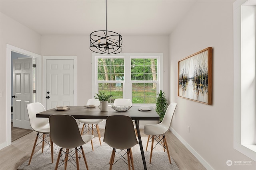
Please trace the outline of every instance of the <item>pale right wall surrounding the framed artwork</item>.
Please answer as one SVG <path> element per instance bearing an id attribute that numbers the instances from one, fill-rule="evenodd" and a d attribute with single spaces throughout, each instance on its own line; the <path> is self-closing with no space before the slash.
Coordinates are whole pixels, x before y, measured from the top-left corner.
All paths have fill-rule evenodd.
<path id="1" fill-rule="evenodd" d="M 198 1 L 170 35 L 170 96 L 178 103 L 172 129 L 208 169 L 255 170 L 256 162 L 233 149 L 233 2 Z M 177 95 L 178 61 L 206 47 L 213 47 L 212 105 Z"/>

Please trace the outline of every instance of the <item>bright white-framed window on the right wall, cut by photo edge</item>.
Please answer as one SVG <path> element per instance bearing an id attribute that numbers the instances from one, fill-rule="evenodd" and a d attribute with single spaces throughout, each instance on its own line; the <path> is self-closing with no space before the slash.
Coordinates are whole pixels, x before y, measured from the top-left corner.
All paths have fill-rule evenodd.
<path id="1" fill-rule="evenodd" d="M 248 12 L 255 14 L 254 0 L 234 2 L 234 149 L 256 161 L 256 82 L 255 82 L 255 15 L 249 23 Z M 246 14 L 247 13 L 247 14 Z M 249 29 L 248 29 L 249 28 Z M 249 34 L 250 33 L 250 34 Z M 254 37 L 247 43 L 246 35 Z M 248 49 L 250 48 L 250 49 Z M 252 51 L 252 53 L 246 53 Z M 253 52 L 254 51 L 254 52 Z M 249 76 L 248 76 L 249 75 Z M 250 80 L 250 81 L 248 81 Z M 252 87 L 252 88 L 251 88 Z M 250 126 L 247 126 L 250 125 Z"/>

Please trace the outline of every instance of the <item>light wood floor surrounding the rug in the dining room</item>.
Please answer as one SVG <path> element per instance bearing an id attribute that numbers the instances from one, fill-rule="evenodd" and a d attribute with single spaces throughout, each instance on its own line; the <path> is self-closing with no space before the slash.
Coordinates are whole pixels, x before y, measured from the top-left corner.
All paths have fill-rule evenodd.
<path id="1" fill-rule="evenodd" d="M 143 133 L 143 129 L 140 129 L 140 131 L 141 136 L 145 137 L 146 135 Z M 104 129 L 100 129 L 100 133 L 101 137 L 104 137 Z M 0 150 L 0 170 L 16 170 L 23 162 L 29 159 L 35 137 L 36 132 L 29 133 L 28 135 L 12 142 L 12 145 Z M 97 137 L 97 135 L 95 135 L 95 137 Z M 194 155 L 191 154 L 188 149 L 186 149 L 186 147 L 171 131 L 166 134 L 166 140 L 168 141 L 170 155 L 180 170 L 206 170 L 206 168 L 194 157 Z M 41 146 L 42 145 L 38 145 L 34 153 L 36 153 Z M 143 146 L 143 149 L 145 150 L 146 146 Z M 162 150 L 162 148 L 159 147 L 156 148 L 156 150 Z M 161 167 L 159 168 L 161 169 Z"/>

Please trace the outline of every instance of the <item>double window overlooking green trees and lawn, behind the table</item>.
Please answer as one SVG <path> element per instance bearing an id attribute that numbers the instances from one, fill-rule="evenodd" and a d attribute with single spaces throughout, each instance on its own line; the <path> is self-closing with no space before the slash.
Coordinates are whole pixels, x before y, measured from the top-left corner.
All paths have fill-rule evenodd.
<path id="1" fill-rule="evenodd" d="M 133 105 L 155 106 L 161 86 L 162 54 L 92 54 L 94 77 L 92 95 L 112 94 L 116 98 L 129 98 Z"/>

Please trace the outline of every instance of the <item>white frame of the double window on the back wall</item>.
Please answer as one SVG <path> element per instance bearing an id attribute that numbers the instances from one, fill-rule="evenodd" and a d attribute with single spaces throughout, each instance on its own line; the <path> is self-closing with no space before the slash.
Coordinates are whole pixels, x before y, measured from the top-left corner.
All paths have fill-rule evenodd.
<path id="1" fill-rule="evenodd" d="M 124 58 L 124 81 L 123 83 L 123 98 L 129 98 L 132 100 L 132 82 L 140 82 L 136 80 L 128 81 L 127 77 L 131 77 L 131 64 L 130 59 L 133 58 L 157 58 L 157 73 L 158 73 L 158 86 L 156 93 L 159 93 L 163 89 L 163 54 L 162 53 L 118 53 L 116 55 L 101 55 L 98 53 L 92 53 L 92 98 L 98 93 L 98 81 L 96 74 L 98 73 L 97 61 L 99 58 Z M 128 71 L 126 71 L 128 70 Z M 111 82 L 111 81 L 108 81 Z M 155 81 L 143 81 L 143 82 L 155 82 Z M 114 81 L 116 83 L 116 81 Z M 133 106 L 153 106 L 156 104 L 132 104 Z"/>

